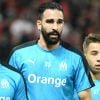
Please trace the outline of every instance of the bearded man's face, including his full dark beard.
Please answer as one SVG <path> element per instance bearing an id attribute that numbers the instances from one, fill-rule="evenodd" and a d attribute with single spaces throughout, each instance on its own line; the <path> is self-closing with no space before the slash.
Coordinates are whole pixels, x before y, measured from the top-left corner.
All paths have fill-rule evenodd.
<path id="1" fill-rule="evenodd" d="M 40 20 L 39 29 L 47 44 L 56 44 L 60 40 L 64 25 L 63 13 L 59 10 L 47 9 Z"/>

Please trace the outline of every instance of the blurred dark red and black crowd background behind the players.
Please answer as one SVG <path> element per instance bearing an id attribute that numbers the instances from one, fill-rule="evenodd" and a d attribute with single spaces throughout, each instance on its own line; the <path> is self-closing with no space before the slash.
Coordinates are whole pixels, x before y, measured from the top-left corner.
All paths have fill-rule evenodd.
<path id="1" fill-rule="evenodd" d="M 38 6 L 55 1 L 63 6 L 65 27 L 62 39 L 82 50 L 89 33 L 99 32 L 100 0 L 0 0 L 0 60 L 5 62 L 13 47 L 39 37 Z"/>

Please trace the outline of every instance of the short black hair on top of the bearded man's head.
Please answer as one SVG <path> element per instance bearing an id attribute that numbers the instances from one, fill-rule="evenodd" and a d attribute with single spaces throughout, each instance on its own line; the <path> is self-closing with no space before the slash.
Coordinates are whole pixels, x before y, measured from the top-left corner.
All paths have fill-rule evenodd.
<path id="1" fill-rule="evenodd" d="M 57 9 L 64 14 L 63 8 L 60 4 L 56 2 L 45 2 L 42 3 L 38 9 L 38 19 L 42 18 L 42 15 L 46 9 Z"/>

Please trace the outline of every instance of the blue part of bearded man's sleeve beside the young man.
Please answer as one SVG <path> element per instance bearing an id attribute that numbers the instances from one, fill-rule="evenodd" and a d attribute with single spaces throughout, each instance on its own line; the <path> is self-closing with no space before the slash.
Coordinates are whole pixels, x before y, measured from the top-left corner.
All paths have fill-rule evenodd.
<path id="1" fill-rule="evenodd" d="M 77 92 L 83 91 L 85 89 L 91 88 L 91 82 L 89 76 L 85 71 L 85 65 L 83 64 L 82 59 L 79 60 L 77 69 L 75 71 L 74 85 Z"/>

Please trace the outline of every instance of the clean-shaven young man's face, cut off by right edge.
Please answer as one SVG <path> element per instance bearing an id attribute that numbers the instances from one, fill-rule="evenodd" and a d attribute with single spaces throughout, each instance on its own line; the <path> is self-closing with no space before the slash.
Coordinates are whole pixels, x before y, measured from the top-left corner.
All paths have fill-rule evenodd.
<path id="1" fill-rule="evenodd" d="M 85 55 L 91 71 L 100 73 L 100 43 L 90 43 Z"/>

